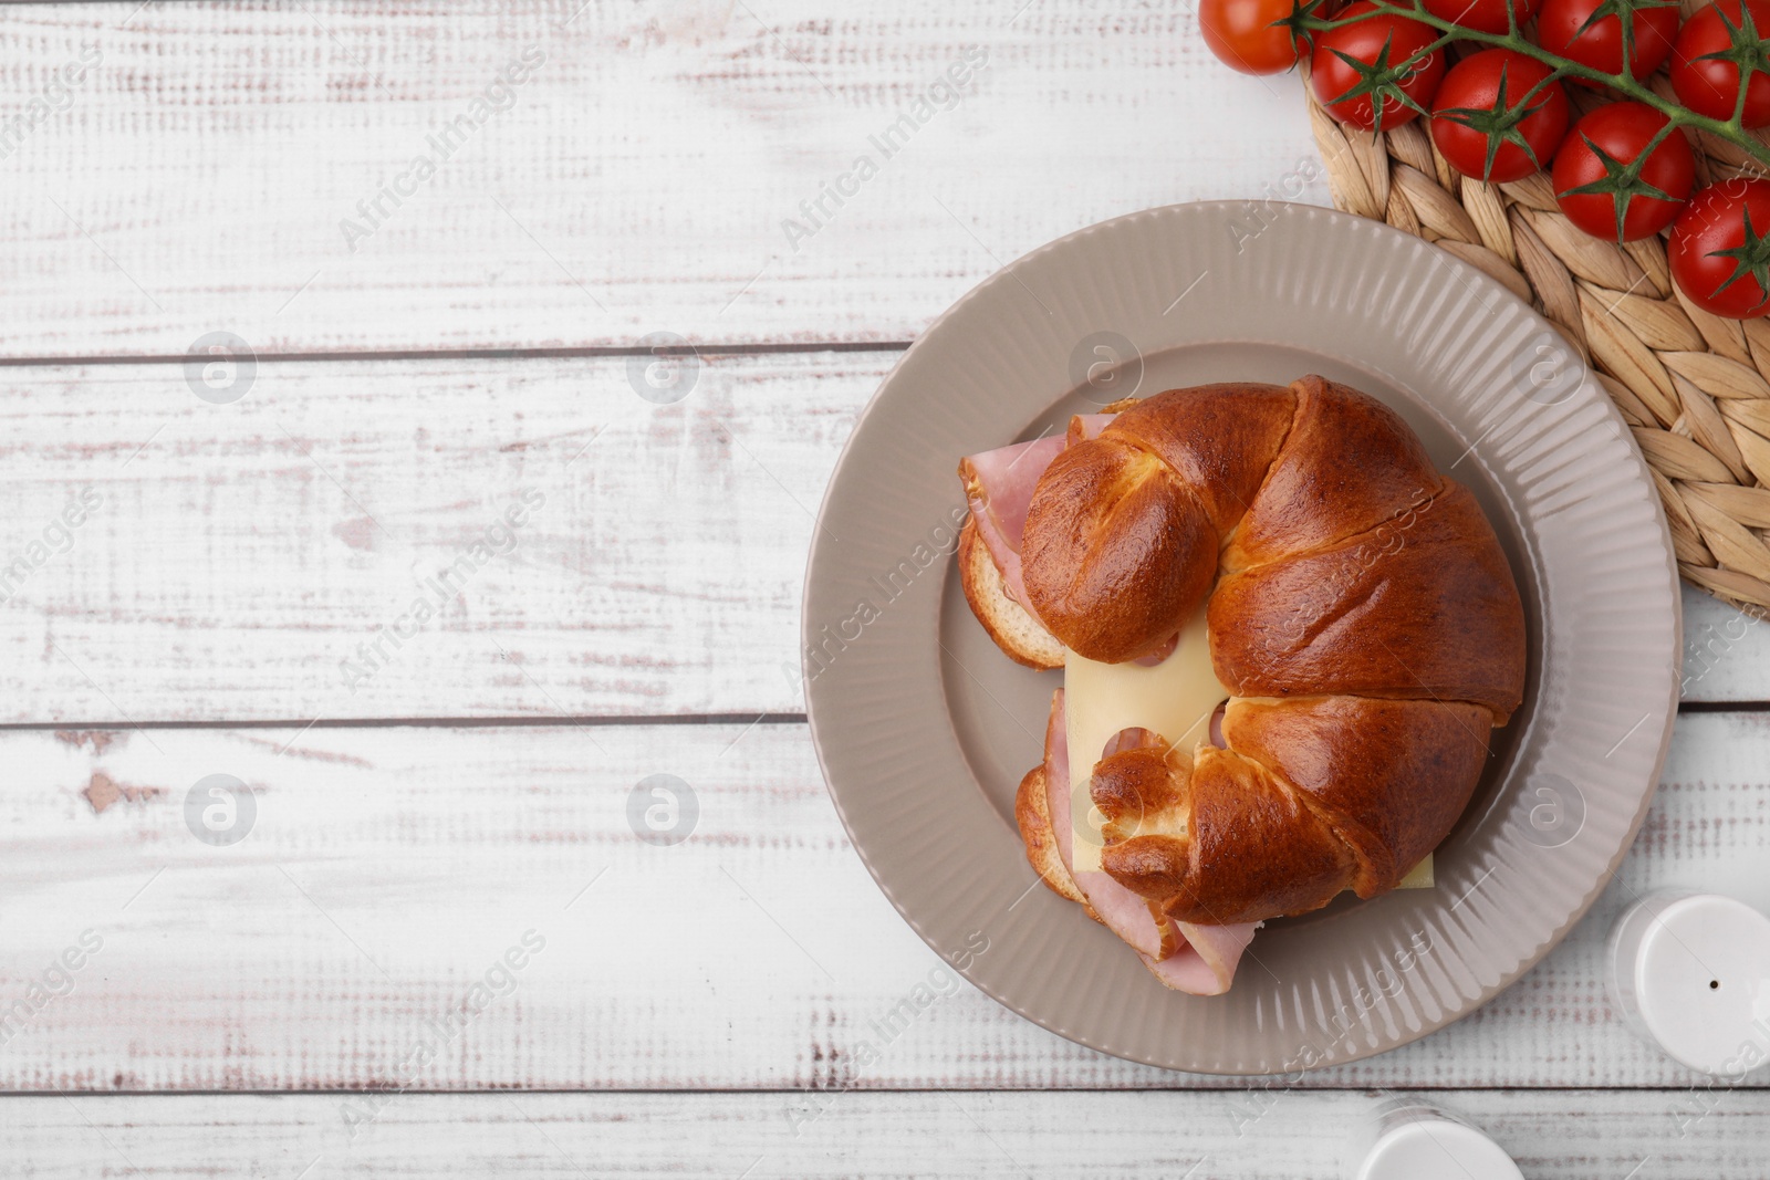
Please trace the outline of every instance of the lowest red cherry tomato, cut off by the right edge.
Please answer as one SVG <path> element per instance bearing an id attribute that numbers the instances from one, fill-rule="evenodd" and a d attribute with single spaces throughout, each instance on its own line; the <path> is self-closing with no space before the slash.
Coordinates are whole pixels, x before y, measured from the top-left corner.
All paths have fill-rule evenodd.
<path id="1" fill-rule="evenodd" d="M 1770 310 L 1770 180 L 1722 180 L 1671 226 L 1666 257 L 1685 297 L 1749 320 Z"/>

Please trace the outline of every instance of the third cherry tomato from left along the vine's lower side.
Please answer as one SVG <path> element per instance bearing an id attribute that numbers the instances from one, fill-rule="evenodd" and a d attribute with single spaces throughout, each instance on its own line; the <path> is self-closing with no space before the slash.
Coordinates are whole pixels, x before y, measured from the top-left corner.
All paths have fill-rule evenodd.
<path id="1" fill-rule="evenodd" d="M 1547 78 L 1547 65 L 1512 50 L 1481 50 L 1451 65 L 1432 104 L 1432 142 L 1450 166 L 1496 184 L 1545 168 L 1568 120 L 1561 83 L 1536 88 Z"/>

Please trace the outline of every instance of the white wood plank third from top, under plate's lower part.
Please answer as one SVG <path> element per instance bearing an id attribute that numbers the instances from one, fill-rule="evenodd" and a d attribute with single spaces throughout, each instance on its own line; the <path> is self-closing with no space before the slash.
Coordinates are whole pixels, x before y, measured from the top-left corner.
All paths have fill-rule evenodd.
<path id="1" fill-rule="evenodd" d="M 1609 1012 L 1602 945 L 1664 885 L 1770 909 L 1766 766 L 1770 716 L 1685 716 L 1641 842 L 1561 948 L 1469 1019 L 1301 1084 L 1689 1084 Z M 65 992 L 5 1037 L 5 1090 L 1223 1084 L 1080 1049 L 945 975 L 798 724 L 12 731 L 0 768 L 0 1008 L 35 1008 L 34 980 Z M 697 816 L 674 846 L 628 810 L 660 773 Z M 253 789 L 235 844 L 188 826 L 209 775 Z M 641 791 L 641 816 L 658 803 Z M 917 984 L 950 994 L 894 1026 Z"/>

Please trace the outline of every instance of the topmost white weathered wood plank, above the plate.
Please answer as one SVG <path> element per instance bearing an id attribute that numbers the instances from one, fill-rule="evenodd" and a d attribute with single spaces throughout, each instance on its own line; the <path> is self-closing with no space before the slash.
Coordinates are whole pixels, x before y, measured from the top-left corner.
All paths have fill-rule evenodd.
<path id="1" fill-rule="evenodd" d="M 131 9 L 5 7 L 0 354 L 908 340 L 1120 212 L 1328 202 L 1188 5 Z"/>

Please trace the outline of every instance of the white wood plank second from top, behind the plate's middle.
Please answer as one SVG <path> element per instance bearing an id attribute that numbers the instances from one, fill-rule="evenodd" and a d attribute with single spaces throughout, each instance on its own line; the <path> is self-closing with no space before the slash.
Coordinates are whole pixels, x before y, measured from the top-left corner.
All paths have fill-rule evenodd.
<path id="1" fill-rule="evenodd" d="M 625 357 L 266 363 L 228 405 L 0 368 L 0 720 L 800 711 L 812 513 L 896 356 L 706 356 L 669 405 Z M 1687 695 L 1770 699 L 1770 630 L 1685 603 Z"/>

